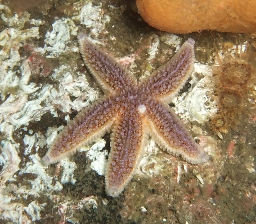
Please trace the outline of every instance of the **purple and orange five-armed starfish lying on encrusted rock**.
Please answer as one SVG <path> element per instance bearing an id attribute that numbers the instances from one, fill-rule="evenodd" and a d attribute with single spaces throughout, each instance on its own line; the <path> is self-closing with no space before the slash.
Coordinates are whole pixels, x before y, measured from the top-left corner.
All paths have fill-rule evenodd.
<path id="1" fill-rule="evenodd" d="M 84 62 L 105 95 L 62 130 L 43 158 L 46 163 L 60 161 L 112 130 L 105 189 L 116 197 L 138 167 L 148 135 L 163 150 L 187 162 L 207 160 L 204 150 L 168 106 L 193 71 L 194 40 L 188 39 L 170 61 L 141 82 L 84 33 L 78 40 Z"/>

